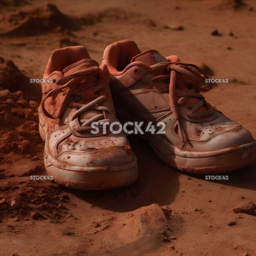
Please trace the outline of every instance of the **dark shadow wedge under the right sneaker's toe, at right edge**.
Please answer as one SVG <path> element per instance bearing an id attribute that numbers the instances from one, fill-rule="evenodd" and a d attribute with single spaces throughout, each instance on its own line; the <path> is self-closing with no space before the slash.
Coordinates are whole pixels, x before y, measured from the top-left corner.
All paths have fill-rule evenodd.
<path id="1" fill-rule="evenodd" d="M 239 170 L 234 170 L 232 172 L 214 174 L 221 176 L 228 176 L 228 180 L 209 180 L 209 182 L 218 183 L 222 185 L 245 188 L 256 191 L 256 164 L 244 167 Z M 205 175 L 188 175 L 194 178 L 205 180 Z"/>

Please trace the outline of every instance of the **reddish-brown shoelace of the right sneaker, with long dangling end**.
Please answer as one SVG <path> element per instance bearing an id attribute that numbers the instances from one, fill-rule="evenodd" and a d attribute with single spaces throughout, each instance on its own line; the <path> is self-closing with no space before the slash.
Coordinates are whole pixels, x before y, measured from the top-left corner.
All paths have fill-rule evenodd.
<path id="1" fill-rule="evenodd" d="M 198 74 L 190 67 L 196 68 L 201 74 Z M 191 83 L 192 88 L 185 93 L 177 93 L 175 95 L 175 82 L 176 82 L 176 72 L 184 75 L 186 77 L 187 82 Z M 189 98 L 196 97 L 200 98 L 199 102 L 191 106 L 190 112 L 188 116 L 191 118 L 202 118 L 205 116 L 209 116 L 214 112 L 214 108 L 205 100 L 204 96 L 200 94 L 200 91 L 209 91 L 211 86 L 207 89 L 201 88 L 201 81 L 204 78 L 208 78 L 208 76 L 196 65 L 186 63 L 186 62 L 171 62 L 167 66 L 167 74 L 154 76 L 152 81 L 163 81 L 166 79 L 170 79 L 169 82 L 169 99 L 170 99 L 170 106 L 173 112 L 174 118 L 177 121 L 179 134 L 181 137 L 182 142 L 184 142 L 184 136 L 182 127 L 180 125 L 180 115 L 177 110 L 176 100 L 175 97 L 180 97 L 178 100 L 178 105 L 182 106 Z M 205 105 L 207 111 L 205 112 L 197 112 L 201 106 Z"/>

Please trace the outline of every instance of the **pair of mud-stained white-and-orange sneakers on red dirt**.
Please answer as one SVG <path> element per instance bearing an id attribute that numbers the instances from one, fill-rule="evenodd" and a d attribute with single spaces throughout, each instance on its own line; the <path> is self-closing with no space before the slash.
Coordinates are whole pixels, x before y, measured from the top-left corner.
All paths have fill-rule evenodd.
<path id="1" fill-rule="evenodd" d="M 104 129 L 118 119 L 143 121 L 142 131 L 152 124 L 156 132 L 141 136 L 182 172 L 222 173 L 255 162 L 251 133 L 205 100 L 200 91 L 208 77 L 175 55 L 141 52 L 134 41 L 123 40 L 106 47 L 99 66 L 84 47 L 65 47 L 52 52 L 44 78 L 44 163 L 55 182 L 68 188 L 111 189 L 136 180 L 137 160 L 126 134 Z"/>

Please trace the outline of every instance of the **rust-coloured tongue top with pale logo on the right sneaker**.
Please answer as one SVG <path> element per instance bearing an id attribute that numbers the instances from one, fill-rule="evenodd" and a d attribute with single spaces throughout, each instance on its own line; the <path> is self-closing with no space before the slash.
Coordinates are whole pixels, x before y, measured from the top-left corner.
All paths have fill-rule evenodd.
<path id="1" fill-rule="evenodd" d="M 144 62 L 148 66 L 152 66 L 160 62 L 168 62 L 168 60 L 156 50 L 144 51 L 134 56 L 131 62 L 134 62 L 134 61 Z"/>

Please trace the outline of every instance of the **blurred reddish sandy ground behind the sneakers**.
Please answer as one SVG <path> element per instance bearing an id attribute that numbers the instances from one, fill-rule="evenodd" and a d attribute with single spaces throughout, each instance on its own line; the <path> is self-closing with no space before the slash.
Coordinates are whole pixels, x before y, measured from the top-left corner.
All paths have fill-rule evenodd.
<path id="1" fill-rule="evenodd" d="M 231 119 L 255 128 L 256 7 L 253 0 L 1 0 L 0 53 L 30 78 L 41 78 L 56 48 L 83 45 L 101 62 L 114 41 L 203 68 L 215 84 L 205 97 Z"/>

